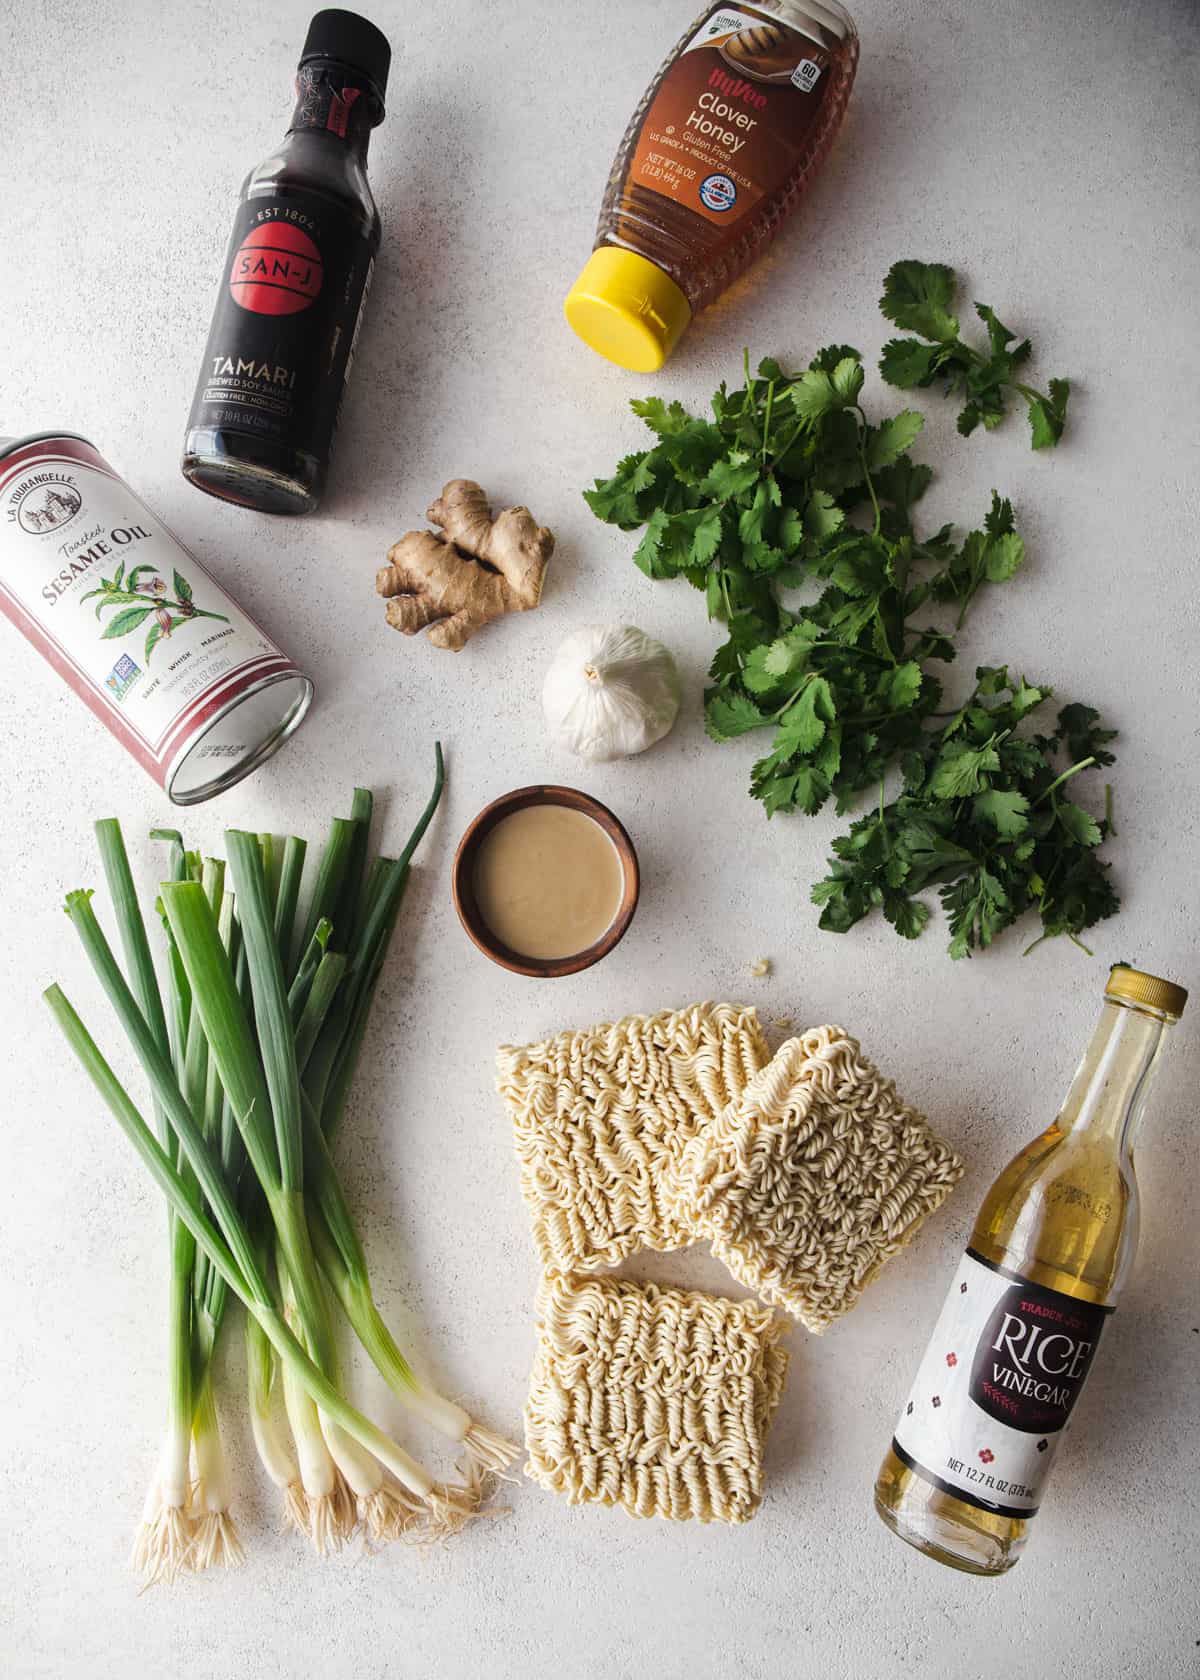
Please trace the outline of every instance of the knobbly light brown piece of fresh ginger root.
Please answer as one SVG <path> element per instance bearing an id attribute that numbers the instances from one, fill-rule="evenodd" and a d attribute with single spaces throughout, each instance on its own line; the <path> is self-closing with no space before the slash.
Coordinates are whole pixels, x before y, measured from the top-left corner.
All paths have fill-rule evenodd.
<path id="1" fill-rule="evenodd" d="M 429 628 L 434 647 L 457 654 L 492 618 L 538 605 L 555 538 L 528 507 L 492 519 L 484 491 L 452 479 L 425 517 L 444 534 L 408 531 L 375 578 L 393 630 Z"/>

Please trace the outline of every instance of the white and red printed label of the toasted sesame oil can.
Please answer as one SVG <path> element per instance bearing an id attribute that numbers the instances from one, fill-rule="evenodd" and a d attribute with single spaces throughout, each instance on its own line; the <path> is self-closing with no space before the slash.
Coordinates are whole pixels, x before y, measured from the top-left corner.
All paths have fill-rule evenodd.
<path id="1" fill-rule="evenodd" d="M 81 438 L 0 459 L 0 608 L 160 783 L 230 699 L 294 669 Z"/>

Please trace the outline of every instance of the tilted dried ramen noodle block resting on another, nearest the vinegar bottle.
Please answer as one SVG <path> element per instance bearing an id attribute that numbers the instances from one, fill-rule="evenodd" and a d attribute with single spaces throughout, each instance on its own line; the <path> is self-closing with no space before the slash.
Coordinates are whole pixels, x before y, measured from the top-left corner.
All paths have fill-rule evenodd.
<path id="1" fill-rule="evenodd" d="M 857 1040 L 815 1026 L 687 1144 L 671 1194 L 736 1278 L 824 1331 L 961 1176 Z"/>

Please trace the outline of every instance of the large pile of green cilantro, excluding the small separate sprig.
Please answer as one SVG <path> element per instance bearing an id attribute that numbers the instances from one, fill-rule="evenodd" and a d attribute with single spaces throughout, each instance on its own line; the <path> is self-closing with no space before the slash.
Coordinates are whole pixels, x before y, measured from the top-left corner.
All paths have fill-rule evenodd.
<path id="1" fill-rule="evenodd" d="M 751 771 L 768 816 L 815 815 L 829 800 L 847 811 L 872 790 L 872 811 L 834 842 L 813 889 L 822 927 L 844 932 L 877 909 L 916 937 L 929 919 L 919 894 L 933 887 L 951 956 L 1030 909 L 1044 936 L 1077 939 L 1118 907 L 1096 855 L 1111 820 L 1062 790 L 1113 761 L 1113 731 L 1081 706 L 1047 732 L 1020 729 L 1052 690 L 1005 667 L 980 667 L 966 704 L 943 709 L 938 672 L 956 633 L 976 598 L 1018 571 L 1025 546 L 995 492 L 961 539 L 950 524 L 918 531 L 933 477 L 909 455 L 923 417 L 871 420 L 864 381 L 859 351 L 834 344 L 798 375 L 770 360 L 751 375 L 746 358 L 743 388 L 723 385 L 711 418 L 634 402 L 654 445 L 598 479 L 588 506 L 642 529 L 642 571 L 686 578 L 726 627 L 706 727 L 714 741 L 770 736 Z M 887 803 L 892 771 L 903 791 Z"/>

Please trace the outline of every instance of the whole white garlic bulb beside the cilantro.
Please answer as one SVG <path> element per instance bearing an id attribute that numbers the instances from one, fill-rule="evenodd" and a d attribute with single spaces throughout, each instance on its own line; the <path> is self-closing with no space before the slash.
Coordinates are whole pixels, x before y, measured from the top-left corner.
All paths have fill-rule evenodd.
<path id="1" fill-rule="evenodd" d="M 644 753 L 679 712 L 679 670 L 635 625 L 585 625 L 555 654 L 541 690 L 546 722 L 578 758 Z"/>

